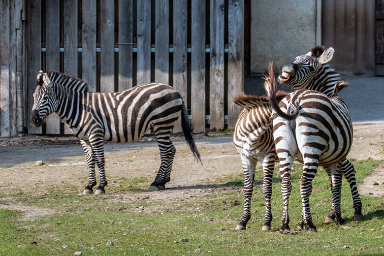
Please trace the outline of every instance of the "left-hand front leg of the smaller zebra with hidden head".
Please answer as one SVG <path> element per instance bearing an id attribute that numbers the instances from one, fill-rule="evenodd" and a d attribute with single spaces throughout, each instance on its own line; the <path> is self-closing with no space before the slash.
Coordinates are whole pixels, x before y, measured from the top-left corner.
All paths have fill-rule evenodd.
<path id="1" fill-rule="evenodd" d="M 245 230 L 248 221 L 251 219 L 251 199 L 254 190 L 255 167 L 257 161 L 245 155 L 241 155 L 241 162 L 244 171 L 244 211 L 237 230 Z"/>

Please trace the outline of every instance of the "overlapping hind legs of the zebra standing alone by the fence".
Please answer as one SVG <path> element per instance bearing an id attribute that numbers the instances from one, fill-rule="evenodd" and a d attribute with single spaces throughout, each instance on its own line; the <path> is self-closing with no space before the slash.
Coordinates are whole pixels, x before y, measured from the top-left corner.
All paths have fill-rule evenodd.
<path id="1" fill-rule="evenodd" d="M 155 131 L 156 140 L 160 149 L 160 168 L 156 175 L 155 181 L 149 186 L 149 191 L 158 191 L 165 189 L 165 183 L 171 180 L 171 169 L 173 158 L 176 153 L 176 148 L 173 146 L 168 134 L 157 134 Z"/>

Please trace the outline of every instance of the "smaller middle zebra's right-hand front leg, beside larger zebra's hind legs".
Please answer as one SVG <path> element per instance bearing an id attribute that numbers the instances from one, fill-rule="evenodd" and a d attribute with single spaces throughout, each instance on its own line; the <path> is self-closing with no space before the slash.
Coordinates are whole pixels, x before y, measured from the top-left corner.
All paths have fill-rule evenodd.
<path id="1" fill-rule="evenodd" d="M 275 167 L 275 156 L 266 156 L 263 159 L 263 195 L 265 199 L 265 219 L 262 230 L 271 230 L 272 210 L 271 210 L 271 197 L 272 197 L 272 177 L 273 169 Z"/>

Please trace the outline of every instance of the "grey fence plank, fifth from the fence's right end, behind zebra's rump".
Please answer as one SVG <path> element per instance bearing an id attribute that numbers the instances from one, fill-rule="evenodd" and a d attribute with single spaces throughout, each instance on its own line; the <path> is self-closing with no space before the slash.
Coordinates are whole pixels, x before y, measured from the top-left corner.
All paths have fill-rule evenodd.
<path id="1" fill-rule="evenodd" d="M 155 82 L 169 84 L 169 8 L 168 0 L 156 0 Z"/>

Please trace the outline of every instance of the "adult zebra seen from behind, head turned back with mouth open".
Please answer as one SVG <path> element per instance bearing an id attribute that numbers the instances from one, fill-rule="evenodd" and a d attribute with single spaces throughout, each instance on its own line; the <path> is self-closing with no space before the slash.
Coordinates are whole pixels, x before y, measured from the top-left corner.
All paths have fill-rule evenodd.
<path id="1" fill-rule="evenodd" d="M 337 96 L 348 83 L 343 82 L 332 68 L 324 65 L 332 59 L 333 53 L 333 48 L 325 50 L 324 47 L 318 46 L 308 54 L 296 57 L 292 64 L 285 66 L 279 81 L 297 91 L 286 96 L 280 104 L 275 96 L 277 87 L 274 76 L 267 80 L 265 86 L 271 106 L 277 113 L 273 117 L 273 136 L 280 161 L 284 200 L 281 231 L 289 230 L 290 168 L 299 152 L 304 163 L 300 178 L 303 210 L 299 229 L 316 231 L 310 213 L 309 196 L 318 166 L 323 166 L 331 173 L 331 191 L 338 222 L 344 223 L 340 211 L 339 170 L 350 171 L 350 176 L 346 178 L 350 179 L 351 190 L 353 185 L 353 191 L 356 192 L 352 193 L 355 215 L 361 216 L 361 201 L 355 188 L 354 168 L 346 159 L 352 145 L 352 122 L 347 105 Z M 296 143 L 291 143 L 292 141 Z"/>

